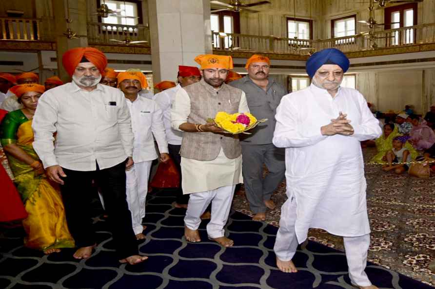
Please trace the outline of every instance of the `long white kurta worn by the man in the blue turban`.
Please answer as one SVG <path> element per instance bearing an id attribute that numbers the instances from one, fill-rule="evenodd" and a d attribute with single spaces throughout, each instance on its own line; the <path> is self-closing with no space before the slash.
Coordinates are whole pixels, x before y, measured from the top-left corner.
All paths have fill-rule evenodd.
<path id="1" fill-rule="evenodd" d="M 347 114 L 352 136 L 323 136 L 339 112 Z M 339 88 L 336 96 L 312 84 L 284 96 L 277 108 L 273 143 L 285 147 L 287 197 L 297 202 L 297 240 L 309 228 L 334 235 L 370 233 L 366 181 L 360 141 L 382 133 L 377 119 L 357 90 Z"/>

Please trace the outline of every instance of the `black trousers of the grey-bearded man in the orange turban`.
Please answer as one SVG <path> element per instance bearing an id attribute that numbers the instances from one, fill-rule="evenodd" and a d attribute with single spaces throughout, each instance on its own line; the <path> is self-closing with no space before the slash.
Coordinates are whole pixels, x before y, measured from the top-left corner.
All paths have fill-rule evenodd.
<path id="1" fill-rule="evenodd" d="M 138 254 L 131 213 L 125 195 L 125 163 L 96 171 L 74 171 L 62 168 L 66 174 L 60 186 L 68 228 L 77 247 L 92 246 L 96 242 L 92 228 L 92 180 L 97 180 L 109 215 L 115 249 L 119 259 Z"/>

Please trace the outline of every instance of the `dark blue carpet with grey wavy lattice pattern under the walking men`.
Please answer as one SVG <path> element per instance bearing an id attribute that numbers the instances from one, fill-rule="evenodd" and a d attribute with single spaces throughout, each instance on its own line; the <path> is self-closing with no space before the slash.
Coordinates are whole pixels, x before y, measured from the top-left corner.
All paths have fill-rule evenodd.
<path id="1" fill-rule="evenodd" d="M 0 288 L 109 289 L 351 289 L 344 253 L 308 241 L 294 257 L 298 268 L 286 274 L 275 267 L 273 245 L 277 228 L 232 212 L 226 232 L 235 246 L 223 248 L 207 239 L 203 221 L 200 243 L 183 236 L 184 209 L 171 206 L 170 192 L 149 196 L 144 224 L 146 240 L 139 251 L 149 259 L 136 266 L 119 264 L 107 223 L 94 218 L 99 244 L 87 260 L 72 257 L 74 250 L 48 256 L 22 246 L 20 229 L 0 239 Z M 97 208 L 96 214 L 101 214 Z M 383 267 L 368 264 L 367 274 L 381 289 L 433 289 Z"/>

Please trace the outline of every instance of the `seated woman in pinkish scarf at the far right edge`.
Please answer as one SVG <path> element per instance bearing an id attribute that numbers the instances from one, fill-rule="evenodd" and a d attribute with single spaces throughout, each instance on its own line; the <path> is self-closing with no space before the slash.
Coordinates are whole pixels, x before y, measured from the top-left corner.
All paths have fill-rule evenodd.
<path id="1" fill-rule="evenodd" d="M 411 136 L 410 142 L 417 150 L 430 148 L 435 143 L 435 133 L 432 128 L 426 125 L 425 120 L 420 120 L 420 117 L 415 114 L 411 114 L 409 118 L 413 124 L 413 128 L 409 133 Z"/>

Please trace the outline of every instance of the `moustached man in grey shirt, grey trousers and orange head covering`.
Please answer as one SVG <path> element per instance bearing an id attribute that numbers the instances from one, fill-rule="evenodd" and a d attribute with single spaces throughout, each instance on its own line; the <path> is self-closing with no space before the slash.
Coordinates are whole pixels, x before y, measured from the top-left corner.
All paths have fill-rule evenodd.
<path id="1" fill-rule="evenodd" d="M 269 121 L 253 129 L 252 134 L 240 141 L 243 157 L 243 180 L 246 198 L 255 221 L 266 219 L 267 209 L 273 210 L 273 192 L 285 174 L 284 150 L 272 143 L 275 130 L 275 114 L 281 98 L 287 90 L 269 77 L 270 60 L 263 55 L 252 55 L 245 66 L 248 74 L 230 83 L 243 90 L 248 107 L 258 119 Z M 269 170 L 265 179 L 257 178 L 263 173 L 263 164 Z"/>

